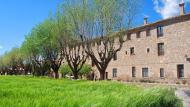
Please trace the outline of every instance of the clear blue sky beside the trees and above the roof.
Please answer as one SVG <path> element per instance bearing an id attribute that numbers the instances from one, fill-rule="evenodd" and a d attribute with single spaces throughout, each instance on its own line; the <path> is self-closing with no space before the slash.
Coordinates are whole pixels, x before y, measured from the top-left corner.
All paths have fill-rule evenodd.
<path id="1" fill-rule="evenodd" d="M 18 47 L 24 41 L 25 35 L 38 23 L 55 12 L 59 3 L 64 0 L 0 0 L 0 55 Z M 148 16 L 149 22 L 176 15 L 176 4 L 179 0 L 142 0 L 141 14 L 136 23 L 143 23 L 143 17 Z M 190 0 L 186 0 L 187 3 Z M 169 8 L 169 9 L 168 9 Z M 190 4 L 186 5 L 190 11 Z M 170 12 L 171 11 L 171 12 Z"/>

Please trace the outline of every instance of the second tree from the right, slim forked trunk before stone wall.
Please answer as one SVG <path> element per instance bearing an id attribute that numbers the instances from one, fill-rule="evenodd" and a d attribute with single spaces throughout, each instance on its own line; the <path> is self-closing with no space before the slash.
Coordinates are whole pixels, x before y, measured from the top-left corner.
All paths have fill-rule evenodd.
<path id="1" fill-rule="evenodd" d="M 72 37 L 69 41 L 65 41 L 66 46 L 64 47 L 65 59 L 70 66 L 74 79 L 78 79 L 79 71 L 82 69 L 83 65 L 86 62 L 87 54 L 85 53 L 84 43 L 80 38 L 80 35 L 77 33 L 76 23 L 73 18 L 82 20 L 82 14 L 80 13 L 83 10 L 83 7 L 80 6 L 80 2 L 77 2 L 74 6 L 73 2 L 70 5 L 63 5 L 62 15 L 65 15 L 65 22 L 67 23 L 67 31 L 71 32 L 69 35 Z M 62 12 L 63 12 L 62 11 Z"/>

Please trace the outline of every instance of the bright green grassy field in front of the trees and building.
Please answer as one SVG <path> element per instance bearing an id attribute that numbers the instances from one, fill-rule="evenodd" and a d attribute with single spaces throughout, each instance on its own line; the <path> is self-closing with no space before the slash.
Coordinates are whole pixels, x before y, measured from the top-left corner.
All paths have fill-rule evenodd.
<path id="1" fill-rule="evenodd" d="M 174 90 L 117 82 L 0 76 L 1 107 L 182 107 Z"/>

